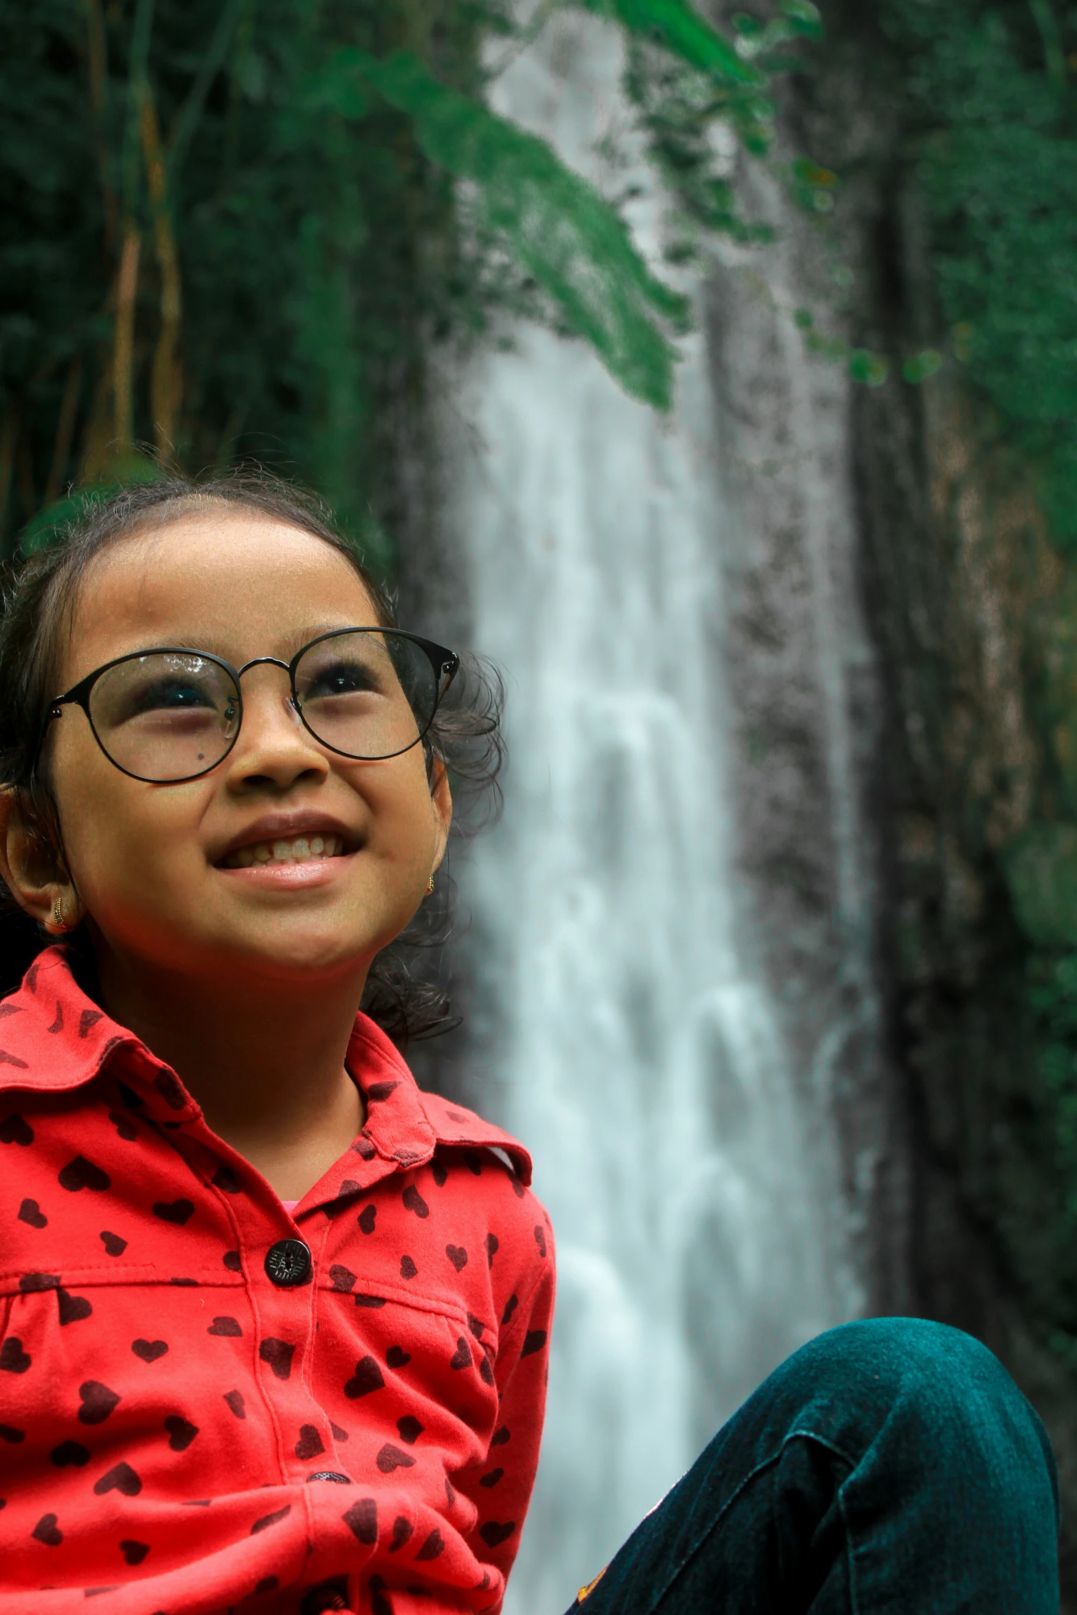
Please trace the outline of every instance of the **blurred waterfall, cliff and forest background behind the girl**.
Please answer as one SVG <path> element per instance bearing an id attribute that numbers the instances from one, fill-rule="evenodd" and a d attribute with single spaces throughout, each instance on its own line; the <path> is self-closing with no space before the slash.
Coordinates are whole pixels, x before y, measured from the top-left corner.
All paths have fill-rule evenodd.
<path id="1" fill-rule="evenodd" d="M 505 678 L 409 1055 L 559 1231 L 513 1615 L 886 1311 L 1077 1610 L 1077 8 L 0 0 L 0 79 L 3 554 L 255 460 Z"/>

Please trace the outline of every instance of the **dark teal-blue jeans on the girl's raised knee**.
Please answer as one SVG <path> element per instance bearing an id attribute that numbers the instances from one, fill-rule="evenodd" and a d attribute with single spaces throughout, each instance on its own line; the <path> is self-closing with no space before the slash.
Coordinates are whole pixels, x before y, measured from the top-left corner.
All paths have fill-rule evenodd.
<path id="1" fill-rule="evenodd" d="M 581 1615 L 1058 1615 L 1040 1420 L 967 1334 L 830 1329 L 719 1431 Z"/>

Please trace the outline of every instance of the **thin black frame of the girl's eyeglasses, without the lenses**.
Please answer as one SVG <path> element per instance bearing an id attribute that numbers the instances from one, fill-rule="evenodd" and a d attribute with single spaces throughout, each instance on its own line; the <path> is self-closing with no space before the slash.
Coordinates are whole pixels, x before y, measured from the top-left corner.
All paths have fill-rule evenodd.
<path id="1" fill-rule="evenodd" d="M 326 640 L 339 640 L 346 633 L 379 633 L 379 635 L 392 635 L 397 640 L 410 640 L 413 644 L 418 644 L 418 648 L 426 654 L 430 665 L 434 672 L 434 706 L 430 717 L 426 719 L 426 725 L 420 730 L 415 740 L 410 740 L 407 743 L 407 746 L 400 746 L 399 751 L 391 751 L 388 753 L 388 756 L 383 757 L 362 757 L 354 751 L 341 751 L 339 746 L 331 746 L 328 740 L 323 740 L 321 735 L 318 735 L 310 727 L 310 724 L 304 715 L 304 709 L 299 704 L 299 694 L 295 691 L 295 669 L 299 667 L 300 661 L 304 659 L 307 651 L 312 651 L 315 648 L 315 644 L 323 644 Z M 152 780 L 147 778 L 144 774 L 134 774 L 131 769 L 124 769 L 121 762 L 116 762 L 116 759 L 111 756 L 103 740 L 97 733 L 97 725 L 94 724 L 94 714 L 90 712 L 90 693 L 94 690 L 94 685 L 113 667 L 119 667 L 121 662 L 137 662 L 144 656 L 199 656 L 202 657 L 203 662 L 215 662 L 218 667 L 223 667 L 224 672 L 231 677 L 236 686 L 236 699 L 239 701 L 239 722 L 236 724 L 236 733 L 229 740 L 226 751 L 223 751 L 221 756 L 216 759 L 216 762 L 212 762 L 208 769 L 199 769 L 197 774 L 184 774 L 178 780 Z M 233 664 L 226 662 L 223 656 L 213 656 L 212 651 L 195 651 L 194 646 L 189 644 L 153 644 L 149 646 L 145 651 L 128 651 L 126 656 L 115 656 L 111 662 L 103 662 L 102 667 L 95 667 L 92 673 L 86 675 L 86 678 L 79 678 L 78 685 L 71 685 L 71 688 L 65 691 L 65 694 L 55 696 L 48 703 L 48 715 L 45 719 L 45 727 L 42 728 L 42 743 L 45 740 L 48 724 L 52 724 L 53 719 L 60 717 L 61 709 L 65 706 L 79 706 L 86 712 L 86 720 L 90 725 L 90 733 L 94 735 L 94 740 L 100 746 L 102 753 L 108 757 L 113 769 L 119 769 L 119 772 L 126 774 L 129 780 L 140 780 L 144 785 L 186 785 L 189 780 L 200 780 L 205 774 L 212 774 L 213 769 L 220 769 L 221 762 L 224 762 L 224 757 L 228 757 L 233 746 L 239 740 L 239 732 L 244 724 L 244 696 L 239 680 L 249 669 L 262 667 L 263 664 L 268 664 L 271 667 L 283 667 L 284 672 L 287 673 L 287 682 L 292 686 L 292 707 L 299 714 L 299 719 L 307 733 L 312 735 L 320 746 L 325 746 L 326 751 L 334 753 L 334 756 L 337 757 L 349 757 L 352 762 L 388 762 L 389 757 L 400 757 L 404 756 L 405 751 L 410 751 L 412 746 L 418 746 L 420 741 L 423 741 L 430 733 L 430 725 L 434 722 L 434 717 L 438 715 L 438 707 L 441 706 L 446 691 L 449 690 L 449 685 L 460 670 L 460 657 L 457 656 L 455 651 L 449 651 L 447 646 L 436 644 L 433 640 L 423 640 L 421 635 L 418 633 L 409 633 L 405 628 L 381 628 L 381 627 L 331 628 L 328 633 L 320 633 L 316 640 L 310 640 L 307 644 L 300 646 L 299 651 L 295 651 L 295 656 L 291 659 L 291 662 L 283 662 L 279 656 L 254 656 L 249 662 L 244 662 L 242 667 L 233 667 Z"/>

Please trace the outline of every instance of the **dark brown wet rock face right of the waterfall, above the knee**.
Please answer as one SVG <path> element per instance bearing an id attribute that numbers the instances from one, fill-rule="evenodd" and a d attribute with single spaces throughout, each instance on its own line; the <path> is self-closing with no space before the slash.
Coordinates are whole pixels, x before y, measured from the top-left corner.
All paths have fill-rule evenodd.
<path id="1" fill-rule="evenodd" d="M 1067 1185 L 1033 956 L 1006 879 L 1043 791 L 1030 636 L 1059 564 L 1027 484 L 977 426 L 975 404 L 946 383 L 857 412 L 865 599 L 886 691 L 880 917 L 914 1113 L 917 1310 L 983 1339 L 1045 1418 L 1072 1600 L 1077 1384 L 1051 1344 L 1074 1315 Z M 909 486 L 916 520 L 899 501 Z"/>

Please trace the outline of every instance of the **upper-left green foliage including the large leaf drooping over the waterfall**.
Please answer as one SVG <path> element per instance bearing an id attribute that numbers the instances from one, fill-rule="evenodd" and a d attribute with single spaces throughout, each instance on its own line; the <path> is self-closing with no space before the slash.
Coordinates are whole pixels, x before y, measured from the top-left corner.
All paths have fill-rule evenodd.
<path id="1" fill-rule="evenodd" d="M 764 50 L 685 0 L 578 3 L 751 149 L 767 52 L 815 27 L 786 0 Z M 486 107 L 492 34 L 504 0 L 0 0 L 0 552 L 68 488 L 155 475 L 150 444 L 312 483 L 388 567 L 430 344 L 499 310 L 668 402 L 686 305 Z"/>

